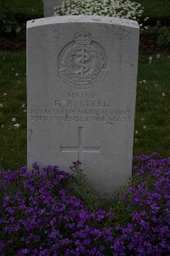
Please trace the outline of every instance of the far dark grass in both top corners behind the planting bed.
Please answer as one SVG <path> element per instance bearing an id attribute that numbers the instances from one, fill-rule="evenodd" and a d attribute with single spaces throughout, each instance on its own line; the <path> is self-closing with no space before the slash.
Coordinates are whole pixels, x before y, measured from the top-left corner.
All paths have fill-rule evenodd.
<path id="1" fill-rule="evenodd" d="M 56 0 L 57 1 L 57 0 Z M 29 20 L 42 16 L 42 0 L 0 0 L 0 3 L 7 5 L 13 10 L 14 14 L 26 16 Z M 150 17 L 150 20 L 162 20 L 164 23 L 170 23 L 170 1 L 169 0 L 134 0 L 141 3 L 144 7 L 144 15 Z M 166 22 L 167 20 L 167 22 Z"/>

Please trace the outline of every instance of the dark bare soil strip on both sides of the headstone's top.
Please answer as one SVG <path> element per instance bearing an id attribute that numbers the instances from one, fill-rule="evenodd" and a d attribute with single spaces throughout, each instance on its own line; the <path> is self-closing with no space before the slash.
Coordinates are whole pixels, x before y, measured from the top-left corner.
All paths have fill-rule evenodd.
<path id="1" fill-rule="evenodd" d="M 26 50 L 26 24 L 21 26 L 19 34 L 0 33 L 0 50 Z M 155 38 L 150 32 L 140 32 L 139 54 L 153 55 L 163 52 L 170 53 L 170 49 L 158 47 Z"/>

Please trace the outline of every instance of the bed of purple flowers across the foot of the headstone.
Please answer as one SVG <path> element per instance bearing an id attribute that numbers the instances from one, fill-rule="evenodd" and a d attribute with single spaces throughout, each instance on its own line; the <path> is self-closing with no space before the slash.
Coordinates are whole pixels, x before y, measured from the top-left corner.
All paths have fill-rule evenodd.
<path id="1" fill-rule="evenodd" d="M 71 170 L 83 180 L 80 166 Z M 105 208 L 88 205 L 90 189 L 73 194 L 73 181 L 37 163 L 0 171 L 0 255 L 170 254 L 170 158 L 134 157 L 130 185 Z"/>

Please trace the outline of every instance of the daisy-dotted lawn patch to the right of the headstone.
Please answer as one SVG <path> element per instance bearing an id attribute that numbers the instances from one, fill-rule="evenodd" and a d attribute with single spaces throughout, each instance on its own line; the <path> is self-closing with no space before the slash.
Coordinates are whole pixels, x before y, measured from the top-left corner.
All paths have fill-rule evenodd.
<path id="1" fill-rule="evenodd" d="M 159 152 L 170 155 L 170 59 L 162 55 L 139 58 L 139 84 L 137 90 L 136 119 L 133 154 Z M 146 80 L 146 83 L 141 83 Z M 144 81 L 145 82 L 145 81 Z M 141 84 L 140 84 L 141 83 Z"/>

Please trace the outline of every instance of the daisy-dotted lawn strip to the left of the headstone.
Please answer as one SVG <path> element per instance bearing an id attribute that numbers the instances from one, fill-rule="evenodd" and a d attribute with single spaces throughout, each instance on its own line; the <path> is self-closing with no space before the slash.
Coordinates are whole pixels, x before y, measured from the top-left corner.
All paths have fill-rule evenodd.
<path id="1" fill-rule="evenodd" d="M 26 164 L 26 54 L 1 52 L 0 78 L 0 164 L 17 168 Z"/>

